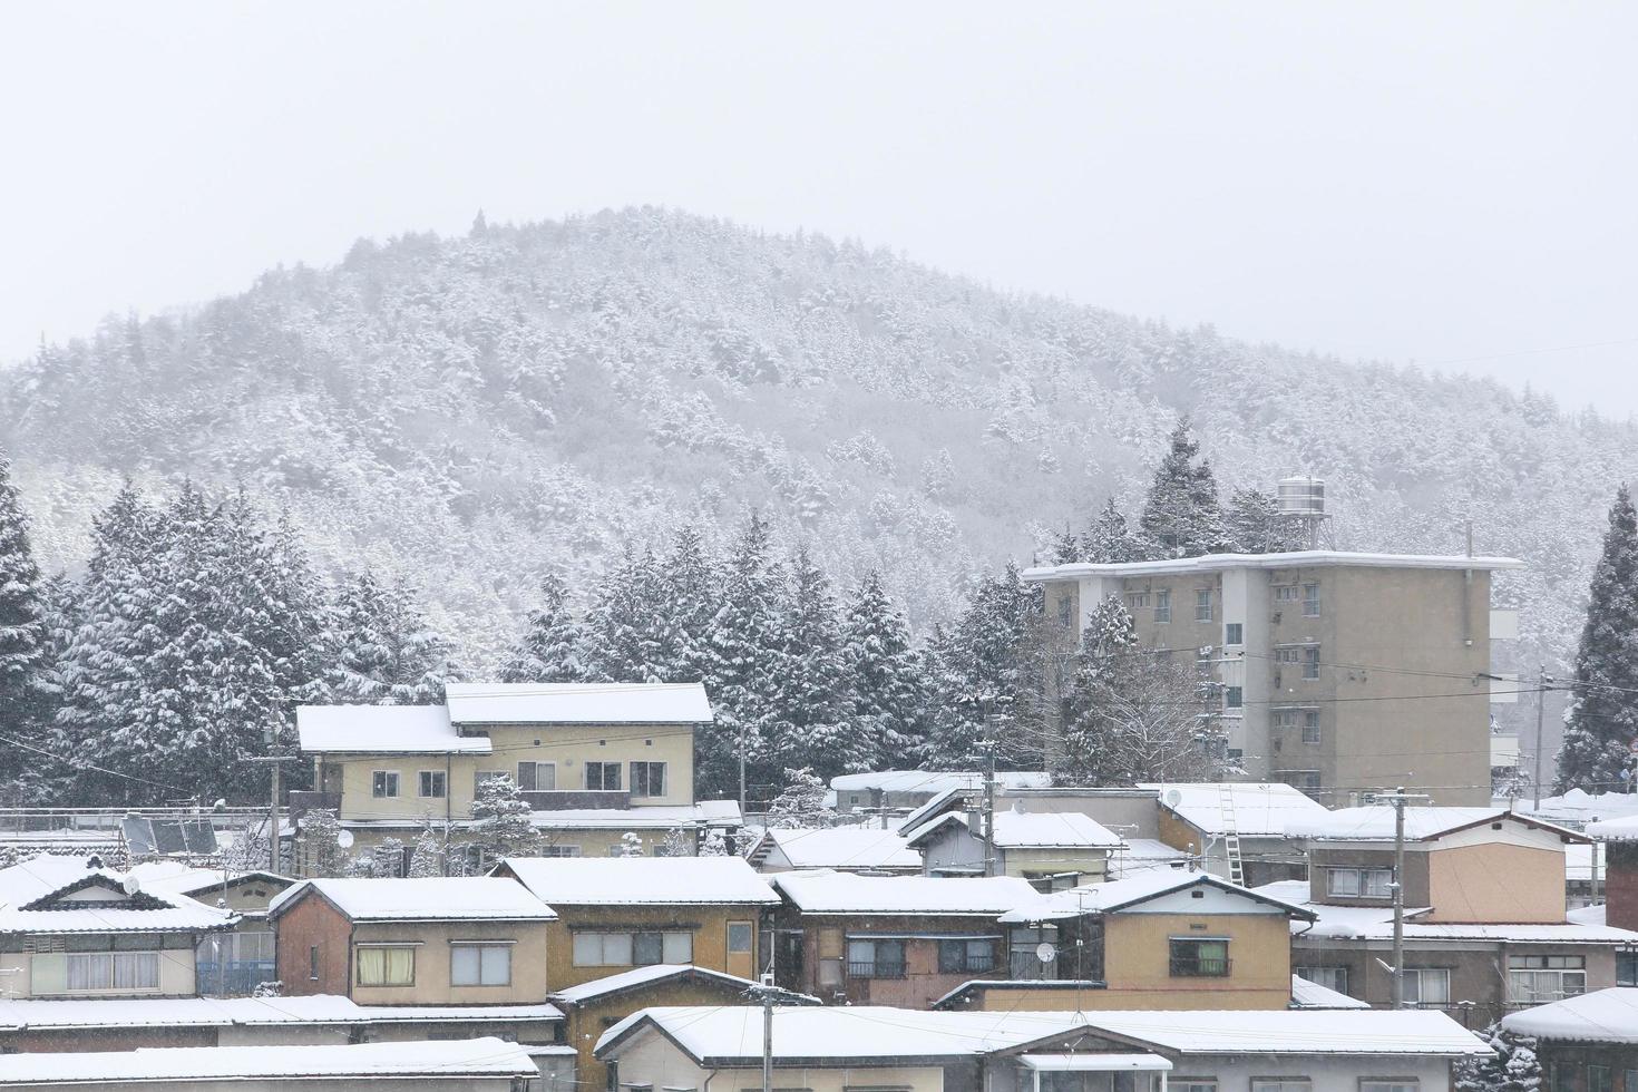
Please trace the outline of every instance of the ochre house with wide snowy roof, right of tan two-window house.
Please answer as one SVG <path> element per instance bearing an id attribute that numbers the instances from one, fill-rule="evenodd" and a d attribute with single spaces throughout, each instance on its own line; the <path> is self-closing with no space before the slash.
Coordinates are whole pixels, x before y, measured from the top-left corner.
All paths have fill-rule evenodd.
<path id="1" fill-rule="evenodd" d="M 491 876 L 516 879 L 557 914 L 547 946 L 554 990 L 654 964 L 749 979 L 762 915 L 780 904 L 737 856 L 513 858 Z"/>

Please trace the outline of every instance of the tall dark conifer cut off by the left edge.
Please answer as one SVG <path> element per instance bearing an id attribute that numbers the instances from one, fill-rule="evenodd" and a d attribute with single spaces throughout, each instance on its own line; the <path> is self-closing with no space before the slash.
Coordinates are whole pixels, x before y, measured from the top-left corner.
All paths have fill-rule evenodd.
<path id="1" fill-rule="evenodd" d="M 0 455 L 0 727 L 33 748 L 0 745 L 7 804 L 39 804 L 48 791 L 49 763 L 39 751 L 51 747 L 54 686 L 43 591 L 11 460 Z"/>

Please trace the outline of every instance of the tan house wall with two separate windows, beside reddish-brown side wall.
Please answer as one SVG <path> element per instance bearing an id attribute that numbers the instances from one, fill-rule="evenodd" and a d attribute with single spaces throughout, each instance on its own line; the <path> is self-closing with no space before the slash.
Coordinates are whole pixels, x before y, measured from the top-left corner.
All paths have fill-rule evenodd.
<path id="1" fill-rule="evenodd" d="M 509 986 L 450 986 L 450 941 L 514 940 Z M 359 986 L 359 945 L 421 941 L 413 986 Z M 349 959 L 360 1005 L 523 1005 L 547 994 L 547 922 L 370 922 L 357 925 Z"/>

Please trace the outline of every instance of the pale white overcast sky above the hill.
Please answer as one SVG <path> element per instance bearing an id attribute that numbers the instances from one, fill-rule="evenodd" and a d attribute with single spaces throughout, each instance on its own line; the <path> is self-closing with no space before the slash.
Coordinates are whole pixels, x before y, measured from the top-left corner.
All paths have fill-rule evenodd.
<path id="1" fill-rule="evenodd" d="M 1627 416 L 1635 43 L 1556 0 L 8 3 L 0 359 L 655 203 Z"/>

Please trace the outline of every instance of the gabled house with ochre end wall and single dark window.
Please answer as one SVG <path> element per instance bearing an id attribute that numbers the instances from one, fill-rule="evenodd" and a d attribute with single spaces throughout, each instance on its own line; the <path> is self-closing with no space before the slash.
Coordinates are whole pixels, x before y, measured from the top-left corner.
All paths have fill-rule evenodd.
<path id="1" fill-rule="evenodd" d="M 1291 923 L 1314 914 L 1209 873 L 1152 871 L 1001 915 L 1007 974 L 942 1007 L 1286 1009 Z"/>

